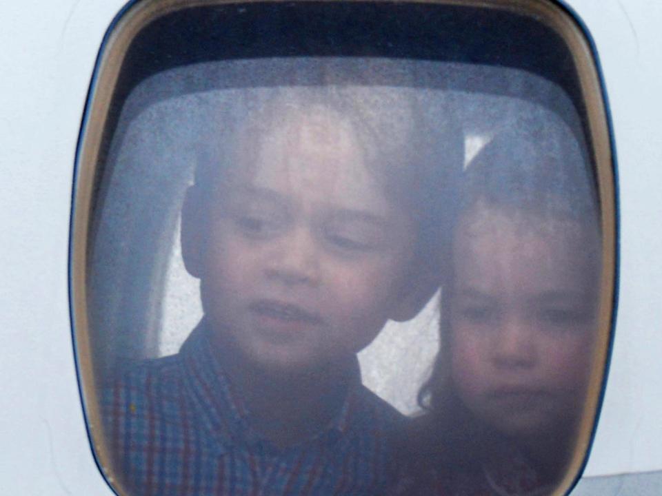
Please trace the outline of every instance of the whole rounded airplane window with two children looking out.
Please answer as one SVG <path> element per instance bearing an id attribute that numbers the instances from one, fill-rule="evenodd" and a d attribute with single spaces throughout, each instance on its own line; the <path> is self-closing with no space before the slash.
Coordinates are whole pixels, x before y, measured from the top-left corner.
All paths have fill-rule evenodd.
<path id="1" fill-rule="evenodd" d="M 546 1 L 134 3 L 72 227 L 109 484 L 565 493 L 610 342 L 608 136 Z"/>

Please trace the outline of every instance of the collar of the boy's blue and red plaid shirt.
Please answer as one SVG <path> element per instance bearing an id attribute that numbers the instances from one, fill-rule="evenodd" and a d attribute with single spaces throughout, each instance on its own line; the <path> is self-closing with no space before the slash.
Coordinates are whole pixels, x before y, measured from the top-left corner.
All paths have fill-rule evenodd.
<path id="1" fill-rule="evenodd" d="M 183 359 L 186 394 L 201 424 L 217 441 L 217 453 L 225 453 L 230 446 L 237 444 L 274 450 L 274 446 L 250 426 L 250 415 L 236 391 L 232 391 L 219 356 L 214 353 L 210 331 L 204 321 L 192 331 L 179 354 Z M 357 417 L 361 411 L 358 403 L 362 385 L 358 360 L 354 366 L 343 406 L 328 428 L 317 433 L 313 440 L 336 442 L 346 439 L 352 426 L 360 424 Z"/>

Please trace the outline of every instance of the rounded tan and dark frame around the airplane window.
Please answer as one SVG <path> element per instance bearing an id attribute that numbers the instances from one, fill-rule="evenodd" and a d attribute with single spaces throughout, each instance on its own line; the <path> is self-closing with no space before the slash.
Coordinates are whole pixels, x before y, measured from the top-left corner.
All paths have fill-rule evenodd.
<path id="1" fill-rule="evenodd" d="M 123 61 L 132 41 L 146 26 L 166 14 L 182 12 L 190 8 L 234 4 L 224 0 L 142 0 L 129 3 L 112 22 L 103 41 L 94 69 L 90 92 L 83 116 L 83 124 L 77 149 L 72 222 L 70 231 L 70 309 L 72 339 L 79 387 L 83 400 L 92 450 L 97 463 L 109 484 L 119 494 L 128 494 L 116 485 L 107 442 L 101 433 L 99 398 L 92 358 L 88 318 L 87 274 L 90 254 L 90 229 L 94 208 L 95 185 L 99 167 L 103 163 L 104 133 L 109 120 L 110 103 L 121 76 Z M 257 3 L 245 1 L 242 3 Z M 285 3 L 268 0 L 261 3 Z M 306 1 L 298 3 L 307 3 Z M 320 2 L 318 2 L 320 3 Z M 321 3 L 341 3 L 326 1 Z M 358 3 L 352 2 L 350 3 Z M 371 3 L 392 4 L 392 0 Z M 600 283 L 599 333 L 592 357 L 592 373 L 576 448 L 568 469 L 554 494 L 566 494 L 581 477 L 594 436 L 604 385 L 608 373 L 611 344 L 616 312 L 616 284 L 618 270 L 618 211 L 616 194 L 615 159 L 608 107 L 603 90 L 599 63 L 590 37 L 566 8 L 552 0 L 420 0 L 408 3 L 434 3 L 441 6 L 485 8 L 500 10 L 524 17 L 532 17 L 559 34 L 572 55 L 579 80 L 581 101 L 585 105 L 585 130 L 588 132 L 588 149 L 595 167 L 599 207 L 601 211 L 603 269 Z"/>

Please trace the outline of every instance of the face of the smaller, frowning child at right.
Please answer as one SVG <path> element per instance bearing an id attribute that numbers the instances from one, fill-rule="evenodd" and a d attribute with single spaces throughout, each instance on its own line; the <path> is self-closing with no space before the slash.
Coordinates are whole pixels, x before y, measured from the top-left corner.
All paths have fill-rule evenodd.
<path id="1" fill-rule="evenodd" d="M 581 413 L 596 332 L 596 234 L 476 207 L 454 238 L 452 377 L 480 420 L 523 439 Z"/>

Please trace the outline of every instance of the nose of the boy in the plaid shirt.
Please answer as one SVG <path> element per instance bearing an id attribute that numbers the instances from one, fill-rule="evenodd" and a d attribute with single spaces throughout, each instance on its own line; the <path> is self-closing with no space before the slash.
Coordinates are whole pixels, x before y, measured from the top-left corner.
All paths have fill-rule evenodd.
<path id="1" fill-rule="evenodd" d="M 273 255 L 266 269 L 269 278 L 287 285 L 319 284 L 319 254 L 310 229 L 290 229 L 277 240 L 277 249 Z"/>

